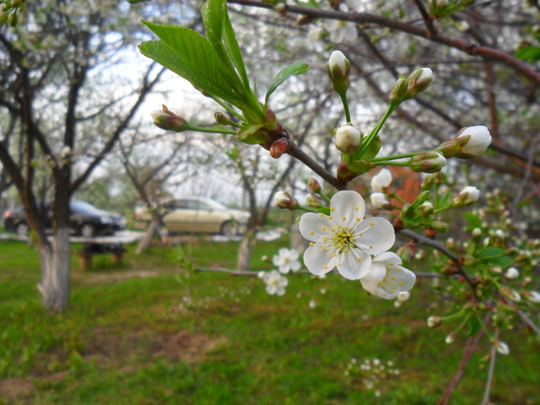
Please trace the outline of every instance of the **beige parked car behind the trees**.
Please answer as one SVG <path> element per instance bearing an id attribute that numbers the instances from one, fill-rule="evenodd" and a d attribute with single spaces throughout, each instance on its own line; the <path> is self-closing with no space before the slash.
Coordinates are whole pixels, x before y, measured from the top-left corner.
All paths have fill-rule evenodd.
<path id="1" fill-rule="evenodd" d="M 232 236 L 245 232 L 249 212 L 234 210 L 203 197 L 188 197 L 163 205 L 163 222 L 170 233 L 221 233 Z M 135 219 L 150 222 L 146 208 L 135 210 Z"/>

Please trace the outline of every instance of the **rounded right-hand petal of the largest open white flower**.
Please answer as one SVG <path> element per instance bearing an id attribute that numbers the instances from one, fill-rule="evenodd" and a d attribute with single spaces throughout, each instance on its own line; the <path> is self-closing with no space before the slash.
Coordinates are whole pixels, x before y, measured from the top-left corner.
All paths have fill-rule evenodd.
<path id="1" fill-rule="evenodd" d="M 354 244 L 369 254 L 386 252 L 395 241 L 394 227 L 384 218 L 366 218 L 355 229 Z"/>

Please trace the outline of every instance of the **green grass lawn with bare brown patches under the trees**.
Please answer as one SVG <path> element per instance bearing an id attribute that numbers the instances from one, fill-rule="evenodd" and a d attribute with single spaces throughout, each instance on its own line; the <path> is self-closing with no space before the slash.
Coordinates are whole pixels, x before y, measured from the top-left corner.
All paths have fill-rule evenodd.
<path id="1" fill-rule="evenodd" d="M 286 244 L 259 243 L 254 267 L 271 268 L 260 256 Z M 198 239 L 192 256 L 201 267 L 233 267 L 236 247 Z M 433 404 L 460 361 L 465 338 L 445 345 L 448 329 L 426 327 L 438 311 L 428 281 L 401 308 L 336 274 L 291 275 L 276 297 L 256 277 L 187 277 L 171 249 L 133 249 L 122 265 L 104 255 L 86 272 L 73 257 L 69 311 L 50 315 L 35 288 L 36 252 L 0 241 L 0 404 Z M 504 334 L 511 356 L 498 357 L 495 403 L 540 403 L 530 339 L 522 329 Z M 480 402 L 488 352 L 484 339 L 451 403 Z M 344 375 L 351 357 L 392 360 L 401 375 L 379 384 L 376 398 Z"/>

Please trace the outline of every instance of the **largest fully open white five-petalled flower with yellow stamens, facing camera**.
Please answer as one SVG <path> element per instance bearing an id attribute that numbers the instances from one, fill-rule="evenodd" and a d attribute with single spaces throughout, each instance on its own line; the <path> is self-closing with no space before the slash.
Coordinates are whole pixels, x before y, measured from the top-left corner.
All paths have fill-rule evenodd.
<path id="1" fill-rule="evenodd" d="M 311 273 L 321 275 L 337 267 L 346 279 L 361 279 L 370 271 L 371 255 L 394 245 L 392 224 L 384 218 L 364 219 L 365 212 L 360 194 L 342 190 L 330 200 L 330 215 L 302 215 L 300 233 L 311 241 L 303 260 Z"/>

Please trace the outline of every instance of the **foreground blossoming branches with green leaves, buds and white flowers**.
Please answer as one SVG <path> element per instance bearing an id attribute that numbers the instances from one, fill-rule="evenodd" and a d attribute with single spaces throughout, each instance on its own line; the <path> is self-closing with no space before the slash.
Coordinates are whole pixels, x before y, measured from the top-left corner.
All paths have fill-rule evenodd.
<path id="1" fill-rule="evenodd" d="M 314 19 L 331 20 L 332 24 L 325 23 L 323 28 L 319 29 L 322 30 L 322 35 L 326 35 L 324 33 L 326 30 L 330 41 L 334 43 L 357 36 L 365 37 L 365 32 L 356 29 L 355 24 L 377 24 L 427 38 L 434 43 L 447 45 L 469 55 L 480 56 L 484 59 L 486 71 L 490 75 L 492 69 L 487 61 L 497 60 L 509 69 L 519 72 L 536 86 L 540 84 L 538 73 L 523 62 L 523 59 L 527 59 L 525 56 L 530 52 L 534 53 L 534 50 L 529 49 L 527 55 L 521 52 L 517 56 L 512 56 L 489 46 L 476 46 L 437 32 L 434 23 L 436 19 L 467 8 L 470 5 L 467 2 L 424 4 L 415 1 L 416 14 L 420 16 L 419 21 L 423 22 L 424 28 L 400 22 L 397 18 L 369 12 L 349 12 L 348 7 L 343 7 L 343 2 L 331 3 L 328 9 L 312 3 L 291 5 L 279 2 L 259 3 L 253 0 L 234 0 L 232 3 L 275 9 L 282 15 L 297 14 L 300 15 L 298 19 L 300 24 L 312 23 Z M 511 280 L 519 277 L 519 271 L 515 266 L 521 267 L 527 274 L 534 271 L 538 253 L 535 249 L 539 243 L 525 238 L 512 242 L 508 239 L 511 223 L 504 220 L 509 214 L 502 205 L 500 193 L 490 195 L 486 210 L 465 215 L 469 224 L 467 227 L 467 232 L 470 233 L 469 240 L 458 246 L 453 240 L 447 240 L 446 244 L 443 244 L 436 239 L 437 234 L 449 230 L 448 222 L 442 220 L 442 213 L 472 205 L 480 198 L 480 190 L 475 186 L 466 185 L 460 187 L 460 191 L 453 191 L 446 184 L 449 181 L 447 176 L 441 173 L 441 169 L 447 164 L 450 166 L 449 161 L 455 159 L 482 161 L 481 154 L 492 142 L 488 127 L 465 126 L 459 131 L 456 129 L 453 139 L 441 139 L 438 145 L 427 145 L 419 150 L 410 150 L 414 147 L 411 143 L 407 145 L 411 146 L 409 150 L 389 153 L 386 147 L 388 145 L 385 145 L 386 139 L 381 130 L 386 128 L 389 117 L 394 113 L 405 117 L 424 131 L 429 131 L 429 126 L 410 116 L 402 109 L 402 104 L 413 99 L 420 105 L 429 104 L 419 95 L 429 86 L 437 86 L 431 69 L 417 68 L 409 75 L 396 75 L 386 92 L 376 83 L 370 83 L 376 93 L 382 95 L 387 102 L 369 132 L 363 133 L 359 124 L 353 120 L 355 111 L 349 107 L 351 103 L 348 96 L 352 67 L 354 65 L 359 72 L 361 68 L 354 59 L 349 60 L 342 51 L 336 50 L 329 55 L 327 73 L 333 90 L 341 99 L 344 115 L 343 122 L 332 134 L 328 133 L 328 137 L 333 138 L 335 147 L 340 152 L 340 162 L 335 171 L 330 172 L 295 143 L 294 134 L 280 122 L 270 108 L 276 89 L 293 76 L 308 72 L 311 66 L 303 62 L 286 66 L 268 86 L 264 99 L 260 98 L 253 84 L 254 79 L 249 76 L 242 59 L 226 2 L 208 0 L 201 14 L 207 37 L 180 26 L 146 23 L 159 39 L 142 43 L 140 51 L 189 80 L 196 89 L 214 99 L 230 114 L 231 119 L 217 119 L 221 127 L 214 129 L 214 132 L 230 134 L 237 137 L 241 143 L 254 145 L 253 147 L 260 145 L 275 159 L 288 154 L 336 190 L 335 193 L 328 193 L 326 185 L 321 187 L 317 180 L 310 179 L 308 185 L 314 194 L 306 197 L 305 206 L 288 192 L 280 191 L 275 194 L 275 203 L 278 207 L 306 212 L 299 218 L 299 228 L 303 237 L 309 240 L 310 246 L 303 255 L 303 261 L 310 273 L 321 276 L 335 269 L 348 280 L 360 280 L 360 285 L 369 294 L 382 299 L 397 299 L 396 302 L 401 303 L 408 298 L 409 291 L 420 275 L 420 272 L 415 274 L 407 267 L 410 267 L 409 262 L 413 264 L 411 260 L 420 253 L 417 252 L 417 248 L 423 244 L 433 248 L 430 264 L 434 273 L 429 275 L 444 278 L 448 283 L 446 292 L 454 298 L 454 304 L 449 308 L 450 314 L 433 315 L 427 320 L 430 327 L 443 322 L 456 322 L 454 332 L 447 336 L 447 343 L 453 342 L 457 333 L 464 326 L 468 326 L 469 341 L 465 354 L 470 357 L 469 353 L 474 350 L 479 336 L 485 334 L 492 343 L 490 359 L 491 364 L 494 364 L 496 352 L 509 354 L 509 347 L 500 339 L 499 332 L 511 322 L 511 313 L 518 314 L 534 333 L 540 334 L 540 328 L 527 313 L 531 305 L 538 303 L 540 294 L 530 287 L 530 278 L 524 279 L 521 285 L 511 284 Z M 315 35 L 314 39 L 319 37 L 320 34 Z M 369 42 L 369 38 L 365 39 L 377 57 L 387 62 L 373 42 Z M 527 57 L 532 58 L 534 62 L 538 60 L 535 56 Z M 490 94 L 490 97 L 493 102 L 494 96 Z M 491 126 L 495 126 L 492 130 L 497 131 L 497 113 L 491 104 Z M 443 111 L 433 106 L 430 110 L 440 118 L 455 123 L 455 120 Z M 154 123 L 162 129 L 176 132 L 201 130 L 165 108 L 152 112 L 152 117 Z M 483 122 L 480 120 L 475 124 Z M 498 139 L 498 133 L 496 140 L 494 147 L 498 151 L 522 163 L 527 160 L 523 154 L 509 151 Z M 536 165 L 534 158 L 531 157 L 529 161 L 531 166 Z M 485 160 L 483 163 L 492 164 Z M 386 169 L 379 170 L 380 166 L 401 166 L 413 172 L 425 173 L 421 192 L 413 201 L 401 199 L 393 187 L 392 175 Z M 399 214 L 393 222 L 372 216 L 362 196 L 356 191 L 349 190 L 349 184 L 353 179 L 374 170 L 378 172 L 371 182 L 372 206 L 376 210 L 394 212 L 398 210 Z M 500 217 L 499 223 L 505 224 L 505 228 L 503 229 L 503 226 L 495 228 L 494 222 L 488 222 L 488 214 Z M 394 251 L 396 234 L 410 238 L 411 241 Z M 282 269 L 282 266 L 289 269 L 284 266 L 286 256 L 284 252 L 274 261 L 274 264 L 279 266 L 279 271 L 260 274 L 269 294 L 285 293 L 287 279 L 280 271 L 288 272 Z M 289 255 L 288 259 L 293 257 L 294 253 Z M 524 302 L 522 298 L 528 299 L 528 302 Z M 467 357 L 464 356 L 465 358 Z M 490 369 L 492 370 L 492 367 Z M 482 400 L 484 404 L 489 401 L 491 381 L 492 372 L 488 374 Z M 440 403 L 448 402 L 451 389 L 453 387 L 450 385 Z"/>

